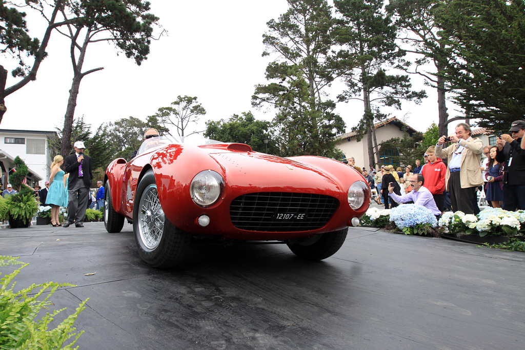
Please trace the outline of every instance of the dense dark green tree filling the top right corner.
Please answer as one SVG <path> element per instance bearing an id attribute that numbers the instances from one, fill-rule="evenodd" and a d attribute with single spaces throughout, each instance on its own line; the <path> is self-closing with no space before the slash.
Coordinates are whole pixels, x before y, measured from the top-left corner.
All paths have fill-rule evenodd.
<path id="1" fill-rule="evenodd" d="M 451 0 L 438 19 L 453 54 L 445 78 L 466 118 L 492 130 L 523 119 L 523 0 Z"/>

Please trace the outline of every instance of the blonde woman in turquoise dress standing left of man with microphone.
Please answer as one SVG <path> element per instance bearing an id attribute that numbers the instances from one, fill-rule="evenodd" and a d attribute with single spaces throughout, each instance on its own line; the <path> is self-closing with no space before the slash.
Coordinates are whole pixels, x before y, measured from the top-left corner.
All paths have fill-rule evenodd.
<path id="1" fill-rule="evenodd" d="M 60 169 L 60 166 L 64 164 L 64 157 L 56 155 L 51 163 L 51 174 L 49 175 L 49 189 L 47 190 L 47 204 L 51 205 L 51 225 L 60 225 L 58 214 L 60 207 L 67 207 L 67 189 L 64 186 L 64 174 L 65 172 Z"/>

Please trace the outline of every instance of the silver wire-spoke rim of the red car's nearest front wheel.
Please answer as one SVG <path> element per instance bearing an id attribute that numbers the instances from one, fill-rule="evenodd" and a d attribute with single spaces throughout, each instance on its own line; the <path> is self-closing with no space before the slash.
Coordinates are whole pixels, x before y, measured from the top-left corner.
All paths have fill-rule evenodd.
<path id="1" fill-rule="evenodd" d="M 144 246 L 155 249 L 159 246 L 164 230 L 164 211 L 155 185 L 144 189 L 139 203 L 139 234 Z"/>

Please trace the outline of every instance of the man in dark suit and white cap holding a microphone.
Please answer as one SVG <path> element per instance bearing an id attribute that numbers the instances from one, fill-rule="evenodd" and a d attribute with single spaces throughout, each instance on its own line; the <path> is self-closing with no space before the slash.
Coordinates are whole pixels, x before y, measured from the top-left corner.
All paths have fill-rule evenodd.
<path id="1" fill-rule="evenodd" d="M 82 141 L 75 142 L 75 154 L 64 158 L 66 173 L 69 173 L 67 206 L 68 216 L 63 227 L 68 227 L 75 222 L 75 227 L 84 227 L 84 216 L 89 199 L 91 186 L 91 157 L 84 155 L 86 147 Z"/>

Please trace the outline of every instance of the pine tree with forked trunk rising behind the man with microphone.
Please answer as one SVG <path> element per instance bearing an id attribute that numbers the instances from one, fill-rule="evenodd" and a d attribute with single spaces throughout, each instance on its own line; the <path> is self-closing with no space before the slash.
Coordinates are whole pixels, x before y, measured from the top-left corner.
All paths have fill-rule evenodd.
<path id="1" fill-rule="evenodd" d="M 43 1 L 38 1 L 35 8 L 37 6 L 44 8 Z M 83 71 L 88 45 L 101 41 L 113 43 L 118 51 L 124 52 L 127 58 L 133 58 L 140 66 L 150 52 L 153 26 L 159 20 L 149 10 L 150 3 L 142 0 L 76 0 L 67 2 L 61 8 L 65 30 L 60 27 L 57 30 L 70 40 L 73 70 L 62 129 L 61 152 L 71 146 L 71 127 L 82 78 L 103 69 L 98 67 Z M 45 16 L 44 12 L 42 14 Z"/>

